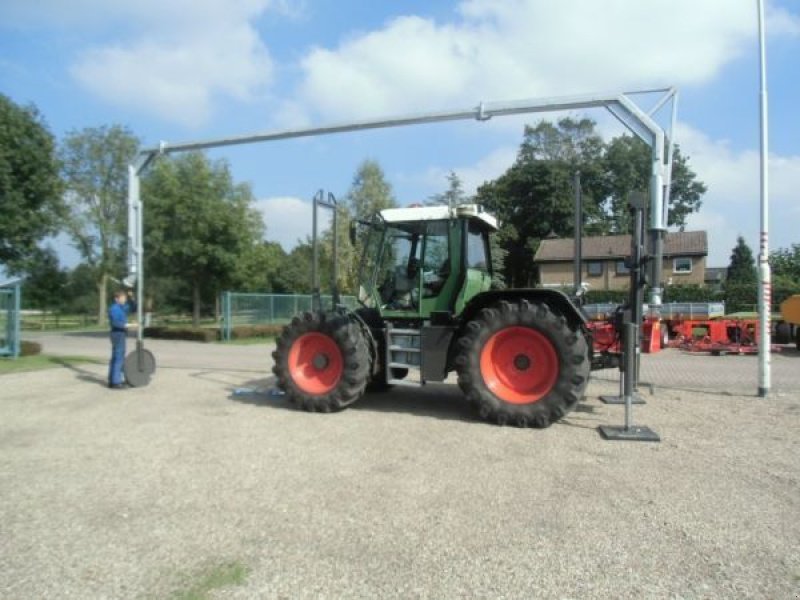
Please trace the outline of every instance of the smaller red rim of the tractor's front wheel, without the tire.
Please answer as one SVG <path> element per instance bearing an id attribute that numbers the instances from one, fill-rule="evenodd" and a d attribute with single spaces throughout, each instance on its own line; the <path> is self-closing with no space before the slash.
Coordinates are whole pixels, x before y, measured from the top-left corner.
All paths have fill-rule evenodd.
<path id="1" fill-rule="evenodd" d="M 306 333 L 289 350 L 289 375 L 308 394 L 325 394 L 339 383 L 344 360 L 339 346 L 322 333 Z"/>

